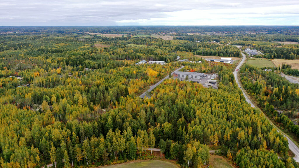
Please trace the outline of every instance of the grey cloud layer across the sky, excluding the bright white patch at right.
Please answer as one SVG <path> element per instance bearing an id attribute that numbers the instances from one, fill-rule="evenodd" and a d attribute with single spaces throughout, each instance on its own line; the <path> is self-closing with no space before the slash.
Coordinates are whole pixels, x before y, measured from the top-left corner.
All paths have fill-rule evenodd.
<path id="1" fill-rule="evenodd" d="M 248 14 L 250 17 L 259 11 L 239 13 L 233 11 L 248 9 L 248 7 L 289 7 L 297 4 L 298 1 L 292 0 L 1 0 L 0 25 L 118 25 L 121 23 L 119 21 L 123 20 L 167 18 L 171 17 L 174 12 L 189 10 L 205 10 L 207 15 L 217 13 L 215 10 L 231 10 L 231 13 L 228 11 L 225 14 L 230 14 L 232 17 L 238 14 Z M 280 11 L 262 11 L 261 14 L 265 15 L 263 18 L 273 17 L 267 16 L 273 14 L 277 14 L 277 18 L 281 18 L 286 14 L 297 14 L 298 16 L 299 11 L 281 9 Z M 218 13 L 218 15 L 221 17 L 222 14 Z M 194 18 L 190 20 L 194 20 Z M 163 24 L 163 21 L 156 22 Z M 167 22 L 171 22 L 171 20 L 167 20 Z M 136 22 L 132 25 L 136 25 Z"/>

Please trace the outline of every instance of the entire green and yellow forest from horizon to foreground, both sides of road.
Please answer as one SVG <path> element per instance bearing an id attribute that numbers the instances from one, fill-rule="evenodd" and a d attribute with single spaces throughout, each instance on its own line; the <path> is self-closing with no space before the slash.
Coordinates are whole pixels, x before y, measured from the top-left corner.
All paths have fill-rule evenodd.
<path id="1" fill-rule="evenodd" d="M 207 168 L 213 167 L 210 153 L 238 168 L 298 168 L 288 139 L 263 115 L 299 143 L 299 84 L 280 76 L 299 76 L 298 70 L 246 62 L 238 69 L 260 112 L 234 77 L 239 61 L 199 57 L 299 59 L 295 30 L 0 26 L 0 168 L 88 168 L 153 159 Z M 249 56 L 246 48 L 263 55 Z M 177 71 L 214 75 L 217 88 L 179 80 L 171 74 Z"/>

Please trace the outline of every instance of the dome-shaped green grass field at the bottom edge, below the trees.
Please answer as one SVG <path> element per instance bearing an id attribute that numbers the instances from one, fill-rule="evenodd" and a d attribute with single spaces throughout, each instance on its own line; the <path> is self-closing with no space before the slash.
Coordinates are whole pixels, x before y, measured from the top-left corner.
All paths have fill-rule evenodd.
<path id="1" fill-rule="evenodd" d="M 178 165 L 160 160 L 134 161 L 123 164 L 104 166 L 105 168 L 179 168 Z"/>

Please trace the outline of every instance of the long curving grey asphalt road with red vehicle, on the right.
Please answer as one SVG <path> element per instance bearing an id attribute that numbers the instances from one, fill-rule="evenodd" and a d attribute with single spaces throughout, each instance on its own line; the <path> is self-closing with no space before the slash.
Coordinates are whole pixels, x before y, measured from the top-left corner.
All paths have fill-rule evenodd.
<path id="1" fill-rule="evenodd" d="M 240 84 L 239 84 L 239 79 L 238 79 L 238 76 L 237 76 L 237 69 L 240 69 L 241 66 L 243 65 L 243 63 L 244 63 L 245 60 L 246 60 L 246 55 L 243 54 L 243 53 L 241 53 L 241 54 L 242 54 L 243 58 L 242 58 L 241 62 L 239 63 L 239 65 L 237 66 L 237 68 L 235 69 L 234 73 L 233 73 L 234 76 L 235 76 L 235 80 L 236 80 L 236 82 L 237 82 L 239 88 L 241 88 L 241 86 L 240 86 Z M 254 107 L 255 107 L 254 104 L 248 99 L 248 97 L 246 96 L 246 94 L 245 94 L 245 92 L 243 91 L 242 88 L 241 88 L 241 90 L 242 90 L 242 92 L 243 92 L 243 95 L 244 95 L 246 101 L 251 105 L 251 107 L 254 108 Z M 266 117 L 266 116 L 265 116 L 265 117 Z M 266 118 L 267 118 L 267 117 L 266 117 Z M 267 118 L 267 119 L 268 119 L 268 118 Z M 269 120 L 269 119 L 268 119 L 268 120 Z M 272 122 L 271 122 L 270 120 L 269 120 L 269 122 L 271 123 L 271 125 L 273 125 Z M 282 132 L 282 131 L 280 131 L 280 130 L 278 130 L 278 129 L 277 129 L 277 131 L 278 131 L 278 132 Z M 282 132 L 282 135 L 288 139 L 288 141 L 289 141 L 289 149 L 295 154 L 295 157 L 294 157 L 295 161 L 296 161 L 296 162 L 299 162 L 299 148 L 298 148 L 298 146 L 296 146 L 295 143 L 294 143 L 292 140 L 290 140 L 290 138 L 288 138 L 286 135 L 284 135 L 283 132 Z"/>

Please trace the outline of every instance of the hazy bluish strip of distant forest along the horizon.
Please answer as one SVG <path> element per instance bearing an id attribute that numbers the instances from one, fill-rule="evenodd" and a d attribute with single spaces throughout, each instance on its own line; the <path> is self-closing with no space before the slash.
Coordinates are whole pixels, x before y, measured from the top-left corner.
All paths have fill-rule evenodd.
<path id="1" fill-rule="evenodd" d="M 298 35 L 298 26 L 0 26 L 1 32 L 85 34 L 158 34 L 158 33 L 267 33 Z"/>

